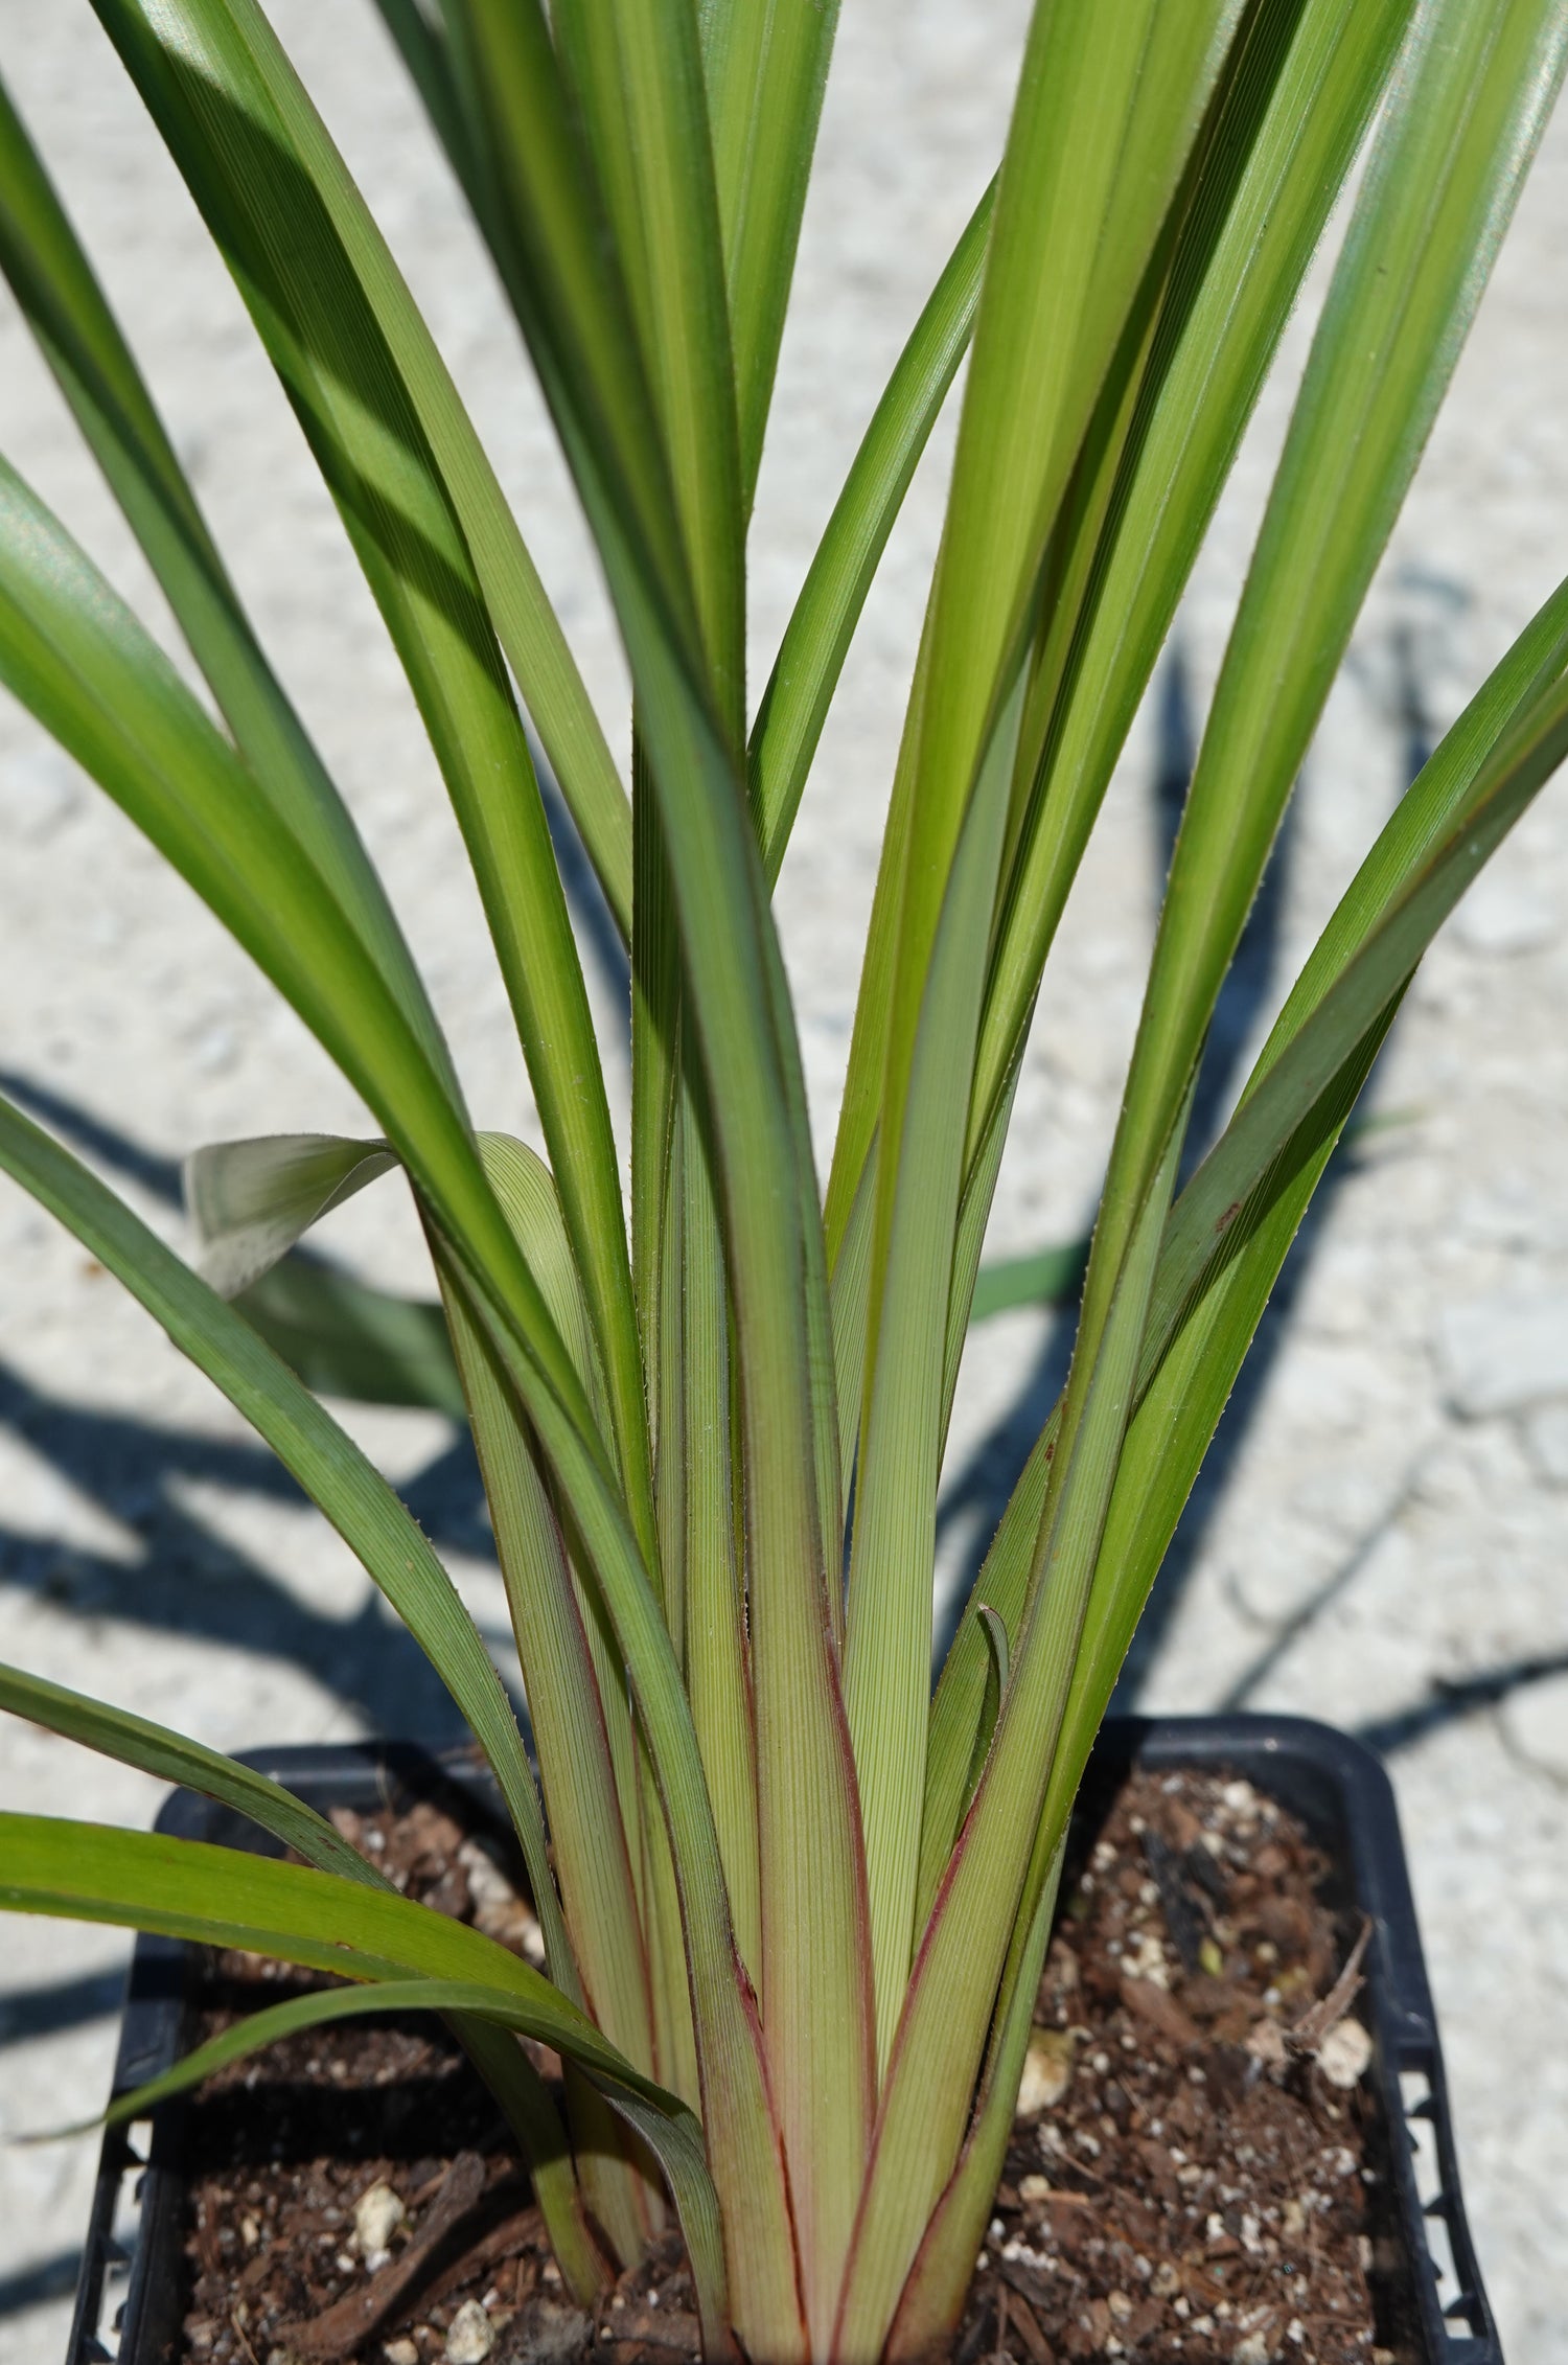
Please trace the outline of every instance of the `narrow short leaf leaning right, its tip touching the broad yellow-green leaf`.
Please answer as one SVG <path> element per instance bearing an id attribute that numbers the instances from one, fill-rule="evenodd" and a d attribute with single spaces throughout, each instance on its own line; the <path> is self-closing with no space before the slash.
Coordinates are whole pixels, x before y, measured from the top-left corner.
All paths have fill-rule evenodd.
<path id="1" fill-rule="evenodd" d="M 769 887 L 785 858 L 866 594 L 970 343 L 993 201 L 996 187 L 986 189 L 970 215 L 899 355 L 832 504 L 757 707 L 750 792 Z"/>

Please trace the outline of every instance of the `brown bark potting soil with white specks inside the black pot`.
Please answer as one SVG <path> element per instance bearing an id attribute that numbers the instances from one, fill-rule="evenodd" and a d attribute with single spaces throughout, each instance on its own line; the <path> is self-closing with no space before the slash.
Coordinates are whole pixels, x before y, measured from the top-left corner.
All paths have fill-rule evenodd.
<path id="1" fill-rule="evenodd" d="M 532 1913 L 440 1807 L 338 1821 L 409 1894 L 537 1953 Z M 1301 1826 L 1244 1781 L 1142 1774 L 1109 1802 L 1064 1880 L 960 2365 L 1417 2356 L 1353 1998 L 1358 1930 L 1322 1901 L 1322 1873 Z M 213 1958 L 206 2027 L 296 1984 Z M 423 2017 L 237 2062 L 189 2133 L 187 2358 L 695 2356 L 676 2237 L 591 2313 L 570 2301 L 485 2088 Z"/>

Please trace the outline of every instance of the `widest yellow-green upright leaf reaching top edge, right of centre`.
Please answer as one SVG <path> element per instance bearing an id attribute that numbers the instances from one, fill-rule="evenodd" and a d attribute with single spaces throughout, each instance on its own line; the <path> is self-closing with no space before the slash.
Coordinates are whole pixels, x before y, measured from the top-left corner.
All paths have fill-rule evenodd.
<path id="1" fill-rule="evenodd" d="M 1038 7 L 996 196 L 913 750 L 880 1223 L 929 951 L 981 754 L 1010 695 L 1041 558 L 1166 225 L 1237 7 Z M 1123 156 L 1138 170 L 1123 170 Z M 875 1282 L 873 1282 L 875 1334 Z"/>

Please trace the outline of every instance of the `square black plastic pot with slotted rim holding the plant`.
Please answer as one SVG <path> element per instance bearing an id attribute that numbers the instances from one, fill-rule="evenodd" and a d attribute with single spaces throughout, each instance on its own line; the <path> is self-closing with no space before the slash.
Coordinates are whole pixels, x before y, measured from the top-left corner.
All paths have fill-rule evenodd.
<path id="1" fill-rule="evenodd" d="M 482 1826 L 501 1828 L 497 1790 L 471 1755 L 416 1748 L 270 1750 L 251 1760 L 315 1807 L 374 1809 L 397 1795 L 459 1788 Z M 1358 1741 L 1301 1717 L 1114 1717 L 1083 1786 L 1081 1812 L 1130 1764 L 1244 1776 L 1301 1816 L 1331 1864 L 1334 1904 L 1372 1920 L 1367 1991 L 1372 2076 L 1388 2124 L 1395 2209 L 1419 2365 L 1502 2365 L 1480 2287 L 1447 2117 L 1443 2055 L 1421 1963 L 1405 1847 L 1381 1762 Z M 277 1854 L 277 1845 L 210 1800 L 175 1790 L 158 1831 Z M 166 2069 L 187 2043 L 194 1949 L 142 1937 L 130 1963 L 114 2093 Z M 66 2365 L 163 2365 L 180 2320 L 184 2216 L 182 2105 L 104 2140 Z M 1433 2240 L 1436 2235 L 1436 2240 Z M 1414 2360 L 1412 2360 L 1414 2365 Z"/>

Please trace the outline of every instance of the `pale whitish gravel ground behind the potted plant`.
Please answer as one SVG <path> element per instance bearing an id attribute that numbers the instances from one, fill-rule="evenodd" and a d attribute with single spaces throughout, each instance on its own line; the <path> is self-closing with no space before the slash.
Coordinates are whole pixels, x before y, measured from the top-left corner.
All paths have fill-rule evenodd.
<path id="1" fill-rule="evenodd" d="M 518 501 L 591 686 L 622 681 L 513 333 L 369 5 L 274 17 L 362 177 Z M 847 9 L 799 322 L 757 527 L 757 679 L 875 385 L 974 201 L 1022 0 Z M 475 1109 L 527 1128 L 504 1003 L 433 764 L 352 561 L 184 194 L 85 0 L 0 0 L 5 71 L 166 407 L 263 636 L 409 922 Z M 1367 840 L 1568 549 L 1561 409 L 1568 118 L 1549 132 L 1454 397 L 1308 759 L 1223 1015 L 1213 1104 Z M 1296 326 L 1052 955 L 991 1253 L 1090 1206 L 1138 1010 L 1171 780 L 1277 449 Z M 156 594 L 0 300 L 0 442 L 144 615 Z M 946 445 L 899 527 L 780 885 L 823 1154 Z M 196 1140 L 348 1128 L 352 1097 L 187 889 L 12 707 L 0 712 L 0 1069 L 170 1237 Z M 1511 2365 L 1568 2360 L 1568 799 L 1556 783 L 1421 970 L 1374 1081 L 1391 1123 L 1334 1168 L 1171 1556 L 1128 1689 L 1289 1708 L 1384 1745 Z M 613 1022 L 617 981 L 596 970 Z M 390 1185 L 329 1244 L 419 1287 Z M 104 1275 L 0 1190 L 7 1656 L 218 1745 L 433 1729 L 367 1580 Z M 974 1334 L 944 1568 L 970 1563 L 1060 1376 L 1048 1315 Z M 487 1627 L 468 1466 L 433 1419 L 352 1414 Z M 71 1783 L 69 1793 L 59 1786 Z M 154 1786 L 0 1731 L 0 1795 L 140 1823 Z M 0 2136 L 102 2093 L 123 1944 L 19 1925 L 0 1970 Z M 0 2147 L 0 2365 L 61 2353 L 90 2143 Z"/>

